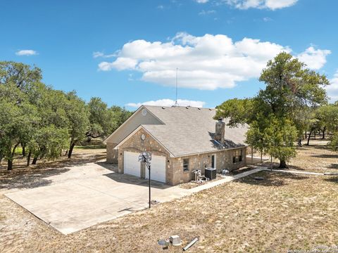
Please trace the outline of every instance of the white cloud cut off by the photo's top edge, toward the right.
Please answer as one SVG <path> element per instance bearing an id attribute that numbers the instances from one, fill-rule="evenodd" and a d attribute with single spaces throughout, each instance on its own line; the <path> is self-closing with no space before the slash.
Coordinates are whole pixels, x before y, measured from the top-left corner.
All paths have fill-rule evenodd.
<path id="1" fill-rule="evenodd" d="M 268 8 L 276 10 L 279 8 L 286 8 L 296 4 L 298 0 L 223 0 L 226 4 L 234 6 L 234 8 L 248 9 L 248 8 Z"/>

